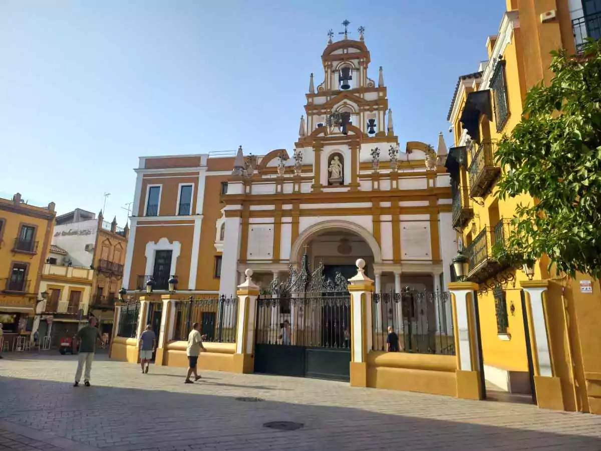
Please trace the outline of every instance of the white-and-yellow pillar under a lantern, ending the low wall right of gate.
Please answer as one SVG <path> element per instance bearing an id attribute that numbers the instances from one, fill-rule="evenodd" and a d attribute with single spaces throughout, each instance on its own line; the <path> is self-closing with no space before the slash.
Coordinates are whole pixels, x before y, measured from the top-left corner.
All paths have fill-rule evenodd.
<path id="1" fill-rule="evenodd" d="M 453 295 L 453 326 L 457 356 L 457 397 L 482 399 L 480 355 L 476 333 L 474 290 L 472 282 L 448 284 Z"/>

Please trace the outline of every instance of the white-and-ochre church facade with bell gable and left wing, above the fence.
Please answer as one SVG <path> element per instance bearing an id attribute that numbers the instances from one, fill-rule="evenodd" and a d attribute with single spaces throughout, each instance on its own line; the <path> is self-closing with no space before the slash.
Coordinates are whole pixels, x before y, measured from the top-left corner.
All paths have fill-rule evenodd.
<path id="1" fill-rule="evenodd" d="M 382 67 L 359 40 L 328 41 L 310 76 L 291 151 L 142 157 L 124 285 L 177 278 L 175 296 L 236 293 L 245 269 L 267 287 L 304 254 L 325 272 L 356 274 L 376 292 L 444 290 L 457 251 L 447 149 L 398 142 Z M 374 78 L 370 78 L 370 75 Z"/>

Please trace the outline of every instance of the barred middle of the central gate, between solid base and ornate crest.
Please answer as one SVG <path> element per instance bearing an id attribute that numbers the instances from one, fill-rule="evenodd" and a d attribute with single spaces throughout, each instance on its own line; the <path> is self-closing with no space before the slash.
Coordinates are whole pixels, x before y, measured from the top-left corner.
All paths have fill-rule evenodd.
<path id="1" fill-rule="evenodd" d="M 263 295 L 257 300 L 257 343 L 350 348 L 348 293 Z"/>

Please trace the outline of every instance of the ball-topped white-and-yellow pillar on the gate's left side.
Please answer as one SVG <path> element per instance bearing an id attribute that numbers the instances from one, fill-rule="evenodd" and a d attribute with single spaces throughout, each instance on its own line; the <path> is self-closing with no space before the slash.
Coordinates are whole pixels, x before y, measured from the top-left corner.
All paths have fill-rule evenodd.
<path id="1" fill-rule="evenodd" d="M 255 368 L 255 318 L 259 287 L 251 277 L 252 269 L 246 269 L 246 280 L 238 286 L 238 320 L 236 324 L 236 354 L 234 368 L 237 373 L 252 373 Z"/>

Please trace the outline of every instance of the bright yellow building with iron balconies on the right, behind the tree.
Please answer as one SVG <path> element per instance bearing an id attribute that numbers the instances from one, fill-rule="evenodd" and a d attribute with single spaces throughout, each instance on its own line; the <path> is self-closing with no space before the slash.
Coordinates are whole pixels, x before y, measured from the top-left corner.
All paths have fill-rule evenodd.
<path id="1" fill-rule="evenodd" d="M 519 123 L 529 88 L 550 81 L 549 52 L 573 54 L 587 32 L 598 34 L 591 22 L 601 12 L 595 7 L 599 2 L 507 0 L 498 34 L 486 40 L 488 60 L 457 81 L 447 168 L 453 227 L 469 258 L 467 280 L 477 289 L 474 339 L 489 395 L 529 394 L 542 407 L 601 413 L 599 282 L 550 274 L 544 259 L 530 281 L 526 268 L 493 258 L 493 248 L 507 245 L 517 204 L 530 200 L 496 198 L 496 142 Z"/>

